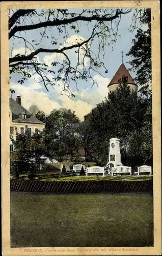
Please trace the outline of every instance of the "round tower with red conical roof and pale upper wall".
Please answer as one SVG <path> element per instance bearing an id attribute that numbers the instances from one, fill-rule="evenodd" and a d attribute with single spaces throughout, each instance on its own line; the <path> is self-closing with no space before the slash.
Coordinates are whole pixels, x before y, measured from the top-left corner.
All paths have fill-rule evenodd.
<path id="1" fill-rule="evenodd" d="M 110 81 L 110 83 L 107 86 L 109 89 L 109 93 L 111 91 L 115 91 L 117 89 L 117 87 L 119 85 L 119 79 L 122 79 L 123 76 L 128 77 L 128 86 L 130 87 L 131 90 L 133 90 L 133 91 L 138 90 L 137 84 L 134 82 L 133 78 L 131 77 L 130 73 L 128 72 L 124 63 L 122 62 L 118 71 L 115 73 L 112 80 Z"/>

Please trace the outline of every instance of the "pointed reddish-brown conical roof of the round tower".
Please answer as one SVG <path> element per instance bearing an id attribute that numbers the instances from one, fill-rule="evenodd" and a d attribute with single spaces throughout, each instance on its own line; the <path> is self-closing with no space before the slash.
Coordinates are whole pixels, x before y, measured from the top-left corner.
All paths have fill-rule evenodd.
<path id="1" fill-rule="evenodd" d="M 123 76 L 128 77 L 128 83 L 134 84 L 135 86 L 137 86 L 136 82 L 134 82 L 132 76 L 126 69 L 124 63 L 121 63 L 118 71 L 115 73 L 115 75 L 113 76 L 112 80 L 110 81 L 107 87 L 111 86 L 112 84 L 119 83 L 119 79 L 122 78 Z"/>

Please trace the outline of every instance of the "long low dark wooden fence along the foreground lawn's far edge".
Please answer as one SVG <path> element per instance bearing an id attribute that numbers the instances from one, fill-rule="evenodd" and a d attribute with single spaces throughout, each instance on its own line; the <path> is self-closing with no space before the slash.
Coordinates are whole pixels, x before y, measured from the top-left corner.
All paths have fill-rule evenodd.
<path id="1" fill-rule="evenodd" d="M 152 193 L 153 181 L 11 180 L 11 191 L 46 193 Z"/>

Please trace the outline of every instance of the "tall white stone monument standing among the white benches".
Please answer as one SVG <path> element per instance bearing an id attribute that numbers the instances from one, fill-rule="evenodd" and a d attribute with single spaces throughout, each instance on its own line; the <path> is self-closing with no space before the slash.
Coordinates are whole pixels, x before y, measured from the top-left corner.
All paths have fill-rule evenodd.
<path id="1" fill-rule="evenodd" d="M 120 139 L 112 138 L 110 139 L 110 152 L 109 152 L 109 164 L 113 164 L 114 167 L 122 165 L 121 154 L 120 154 Z"/>

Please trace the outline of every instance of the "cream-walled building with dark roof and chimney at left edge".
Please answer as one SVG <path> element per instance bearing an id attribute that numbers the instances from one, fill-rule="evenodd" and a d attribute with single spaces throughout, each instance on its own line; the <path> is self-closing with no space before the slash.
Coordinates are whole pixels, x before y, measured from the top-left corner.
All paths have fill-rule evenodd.
<path id="1" fill-rule="evenodd" d="M 33 133 L 43 131 L 45 124 L 33 116 L 28 110 L 21 105 L 21 97 L 17 96 L 16 101 L 10 98 L 10 136 L 16 139 L 16 131 L 23 134 L 26 129 Z M 10 151 L 13 151 L 13 144 L 10 140 Z"/>

